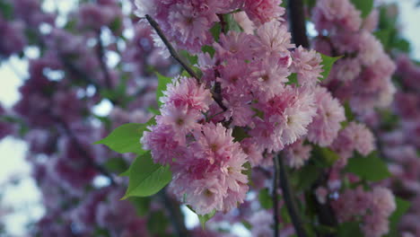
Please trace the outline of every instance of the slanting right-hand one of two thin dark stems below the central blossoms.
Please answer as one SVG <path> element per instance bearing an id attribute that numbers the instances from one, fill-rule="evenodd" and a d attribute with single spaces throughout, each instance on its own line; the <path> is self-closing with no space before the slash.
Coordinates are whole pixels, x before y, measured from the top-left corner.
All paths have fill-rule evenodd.
<path id="1" fill-rule="evenodd" d="M 275 167 L 279 171 L 280 188 L 283 192 L 284 204 L 287 208 L 290 218 L 292 219 L 294 230 L 298 237 L 306 237 L 308 235 L 306 234 L 306 231 L 303 227 L 302 219 L 297 211 L 296 204 L 293 201 L 293 193 L 292 189 L 290 188 L 289 178 L 287 177 L 284 162 L 280 154 L 277 154 L 275 158 Z"/>

